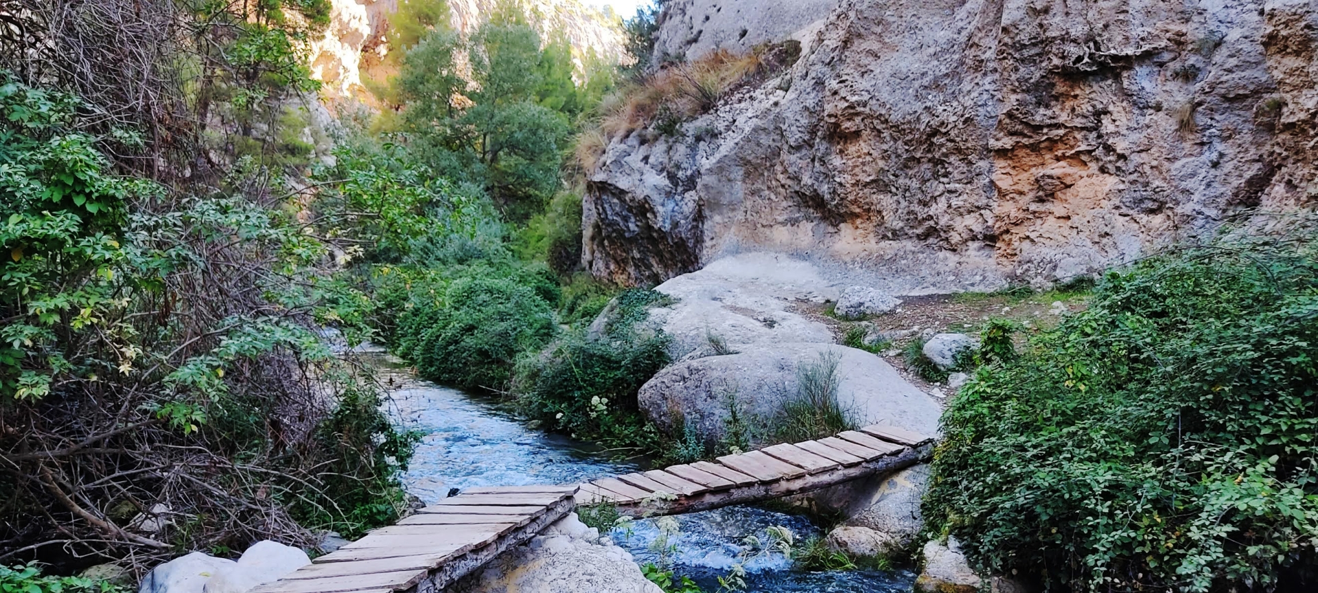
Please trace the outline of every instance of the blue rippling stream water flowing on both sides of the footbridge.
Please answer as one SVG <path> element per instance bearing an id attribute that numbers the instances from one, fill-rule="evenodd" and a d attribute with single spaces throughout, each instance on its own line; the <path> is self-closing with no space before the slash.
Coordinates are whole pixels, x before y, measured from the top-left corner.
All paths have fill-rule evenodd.
<path id="1" fill-rule="evenodd" d="M 506 411 L 459 390 L 393 376 L 391 412 L 399 423 L 424 434 L 403 476 L 409 492 L 434 502 L 449 489 L 572 484 L 629 473 L 634 464 L 612 461 L 590 447 L 527 428 Z M 677 575 L 689 575 L 706 592 L 717 576 L 741 561 L 749 592 L 763 593 L 898 593 L 909 592 L 915 575 L 907 571 L 793 571 L 778 553 L 749 555 L 747 535 L 767 539 L 766 528 L 783 526 L 797 540 L 820 534 L 808 519 L 757 507 L 733 506 L 673 518 L 679 531 L 668 538 L 668 557 Z M 639 563 L 658 560 L 654 543 L 660 530 L 654 519 L 633 522 L 613 539 Z"/>

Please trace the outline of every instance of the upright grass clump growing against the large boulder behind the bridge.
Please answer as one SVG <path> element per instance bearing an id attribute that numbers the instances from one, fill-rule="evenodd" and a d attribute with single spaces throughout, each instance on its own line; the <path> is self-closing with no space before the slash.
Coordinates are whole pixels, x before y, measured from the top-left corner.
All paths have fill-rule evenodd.
<path id="1" fill-rule="evenodd" d="M 820 439 L 855 428 L 853 411 L 837 399 L 837 356 L 820 354 L 817 361 L 797 365 L 796 394 L 783 402 L 775 426 L 780 441 Z"/>

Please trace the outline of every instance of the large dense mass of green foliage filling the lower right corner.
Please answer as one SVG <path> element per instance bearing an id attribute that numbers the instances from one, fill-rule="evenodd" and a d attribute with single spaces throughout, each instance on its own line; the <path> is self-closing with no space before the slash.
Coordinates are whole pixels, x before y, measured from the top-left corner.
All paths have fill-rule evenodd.
<path id="1" fill-rule="evenodd" d="M 1313 586 L 1307 236 L 1110 273 L 1087 310 L 981 368 L 942 418 L 928 524 L 982 568 L 1073 590 Z"/>

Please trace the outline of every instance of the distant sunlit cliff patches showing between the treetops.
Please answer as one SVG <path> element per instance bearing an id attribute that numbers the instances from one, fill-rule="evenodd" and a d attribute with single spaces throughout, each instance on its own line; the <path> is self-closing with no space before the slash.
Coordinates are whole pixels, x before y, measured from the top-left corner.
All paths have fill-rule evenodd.
<path id="1" fill-rule="evenodd" d="M 449 0 L 453 30 L 476 30 L 496 4 L 498 0 Z M 616 17 L 577 0 L 523 4 L 542 34 L 567 34 L 577 61 L 589 51 L 612 63 L 625 59 L 621 22 Z M 382 67 L 389 51 L 385 41 L 389 17 L 398 11 L 398 0 L 331 0 L 331 7 L 330 26 L 307 47 L 311 74 L 323 82 L 323 95 L 331 103 L 347 98 L 369 101 L 362 76 Z"/>

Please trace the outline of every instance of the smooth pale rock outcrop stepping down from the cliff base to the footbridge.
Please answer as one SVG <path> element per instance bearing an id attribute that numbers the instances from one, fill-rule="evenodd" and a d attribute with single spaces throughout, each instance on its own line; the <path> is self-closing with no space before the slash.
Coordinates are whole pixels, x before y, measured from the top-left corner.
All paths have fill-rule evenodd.
<path id="1" fill-rule="evenodd" d="M 834 344 L 829 327 L 809 314 L 861 278 L 844 268 L 743 253 L 659 285 L 672 303 L 650 310 L 639 327 L 671 337 L 676 362 L 641 387 L 641 410 L 670 434 L 680 435 L 689 422 L 717 443 L 734 410 L 750 427 L 767 426 L 797 397 L 803 369 L 833 364 L 838 403 L 855 422 L 936 434 L 941 409 L 933 399 L 883 358 Z M 606 318 L 608 310 L 594 325 Z"/>

